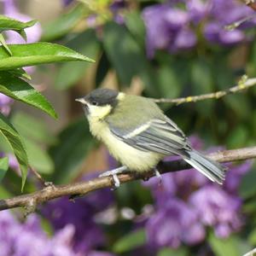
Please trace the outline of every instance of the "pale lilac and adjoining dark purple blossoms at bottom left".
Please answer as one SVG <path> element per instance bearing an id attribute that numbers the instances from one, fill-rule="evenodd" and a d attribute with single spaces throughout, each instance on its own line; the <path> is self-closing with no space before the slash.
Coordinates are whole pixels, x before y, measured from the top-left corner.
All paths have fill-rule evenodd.
<path id="1" fill-rule="evenodd" d="M 0 212 L 1 255 L 113 256 L 95 250 L 103 245 L 104 236 L 93 219 L 112 201 L 111 191 L 102 189 L 75 203 L 67 199 L 49 203 L 43 213 L 55 228 L 54 236 L 44 232 L 36 214 L 20 223 L 10 211 Z"/>

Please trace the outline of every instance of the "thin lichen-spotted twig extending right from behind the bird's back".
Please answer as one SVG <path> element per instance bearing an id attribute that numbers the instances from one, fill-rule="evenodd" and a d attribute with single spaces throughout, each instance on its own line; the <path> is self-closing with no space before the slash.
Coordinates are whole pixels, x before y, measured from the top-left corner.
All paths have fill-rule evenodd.
<path id="1" fill-rule="evenodd" d="M 228 90 L 218 90 L 216 92 L 202 94 L 199 96 L 188 96 L 188 97 L 182 97 L 182 98 L 176 98 L 176 99 L 160 98 L 160 99 L 152 99 L 152 100 L 157 103 L 176 103 L 177 105 L 179 105 L 182 103 L 199 102 L 207 99 L 219 99 L 223 96 L 234 94 L 234 93 L 240 92 L 241 90 L 246 90 L 254 85 L 256 85 L 256 78 L 247 79 L 247 76 L 242 76 L 238 84 L 234 87 L 231 87 Z"/>

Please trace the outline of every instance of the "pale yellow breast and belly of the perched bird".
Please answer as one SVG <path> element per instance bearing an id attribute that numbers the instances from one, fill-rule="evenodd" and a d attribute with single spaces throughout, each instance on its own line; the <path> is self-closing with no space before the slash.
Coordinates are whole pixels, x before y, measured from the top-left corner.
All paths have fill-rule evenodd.
<path id="1" fill-rule="evenodd" d="M 122 142 L 108 129 L 105 121 L 89 117 L 90 132 L 106 144 L 110 154 L 131 171 L 150 171 L 162 159 L 161 154 L 145 152 Z"/>

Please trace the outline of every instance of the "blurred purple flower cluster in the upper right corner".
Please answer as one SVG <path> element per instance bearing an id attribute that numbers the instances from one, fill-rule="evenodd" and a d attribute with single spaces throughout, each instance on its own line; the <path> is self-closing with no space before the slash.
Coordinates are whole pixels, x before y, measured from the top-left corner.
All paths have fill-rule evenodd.
<path id="1" fill-rule="evenodd" d="M 153 57 L 155 49 L 190 49 L 200 38 L 224 45 L 240 43 L 247 39 L 244 26 L 232 31 L 224 26 L 252 14 L 252 9 L 236 0 L 168 1 L 149 6 L 143 10 L 148 56 Z"/>

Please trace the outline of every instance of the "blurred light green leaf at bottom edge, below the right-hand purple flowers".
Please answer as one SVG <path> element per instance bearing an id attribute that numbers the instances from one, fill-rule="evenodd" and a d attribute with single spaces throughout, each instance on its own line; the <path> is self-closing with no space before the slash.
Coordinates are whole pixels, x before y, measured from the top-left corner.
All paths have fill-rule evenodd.
<path id="1" fill-rule="evenodd" d="M 238 241 L 234 236 L 230 236 L 228 238 L 218 238 L 214 236 L 213 233 L 209 236 L 208 239 L 210 246 L 212 247 L 212 251 L 216 256 L 240 256 Z"/>

